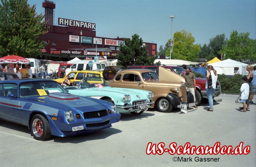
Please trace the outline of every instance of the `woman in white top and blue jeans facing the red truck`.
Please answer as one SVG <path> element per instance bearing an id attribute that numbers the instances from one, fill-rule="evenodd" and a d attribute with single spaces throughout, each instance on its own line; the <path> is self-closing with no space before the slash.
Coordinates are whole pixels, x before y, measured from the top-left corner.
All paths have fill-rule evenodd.
<path id="1" fill-rule="evenodd" d="M 214 95 L 215 89 L 216 89 L 216 83 L 217 83 L 217 71 L 213 68 L 212 65 L 208 65 L 207 66 L 207 75 L 206 75 L 206 84 L 205 84 L 205 88 L 206 88 L 206 95 L 209 101 L 209 105 L 210 108 L 207 111 L 213 111 L 213 99 L 212 96 Z M 209 81 L 209 77 L 210 75 L 212 76 L 212 87 L 208 88 L 208 81 Z"/>

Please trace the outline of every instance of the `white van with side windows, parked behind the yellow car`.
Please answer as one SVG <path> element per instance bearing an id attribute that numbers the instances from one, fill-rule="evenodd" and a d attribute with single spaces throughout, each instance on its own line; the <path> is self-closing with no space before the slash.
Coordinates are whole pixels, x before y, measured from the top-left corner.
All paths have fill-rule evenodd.
<path id="1" fill-rule="evenodd" d="M 93 63 L 92 67 L 89 66 L 88 62 L 84 63 L 74 63 L 71 66 L 71 71 L 80 71 L 80 70 L 104 70 L 106 67 L 105 63 Z"/>

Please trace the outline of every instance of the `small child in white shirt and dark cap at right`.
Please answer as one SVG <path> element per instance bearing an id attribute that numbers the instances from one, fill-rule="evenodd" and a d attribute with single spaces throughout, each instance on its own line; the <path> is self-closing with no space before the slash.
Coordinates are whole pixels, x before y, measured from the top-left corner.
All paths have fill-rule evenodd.
<path id="1" fill-rule="evenodd" d="M 247 81 L 248 81 L 247 77 L 242 78 L 243 84 L 240 88 L 240 91 L 241 91 L 241 102 L 243 103 L 243 108 L 241 108 L 242 109 L 241 112 L 249 111 L 246 108 L 246 100 L 248 99 L 248 96 L 249 96 L 249 85 Z"/>

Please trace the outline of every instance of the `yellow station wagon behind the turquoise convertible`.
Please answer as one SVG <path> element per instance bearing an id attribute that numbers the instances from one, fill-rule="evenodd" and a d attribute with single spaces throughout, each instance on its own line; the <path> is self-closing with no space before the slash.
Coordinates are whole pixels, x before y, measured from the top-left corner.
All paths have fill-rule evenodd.
<path id="1" fill-rule="evenodd" d="M 71 71 L 64 78 L 55 79 L 55 81 L 61 84 L 64 80 L 66 80 L 67 76 L 70 77 L 71 84 L 73 83 L 73 81 L 76 81 L 76 83 L 78 84 L 80 80 L 82 80 L 85 77 L 103 77 L 103 71 L 91 71 L 91 70 Z"/>

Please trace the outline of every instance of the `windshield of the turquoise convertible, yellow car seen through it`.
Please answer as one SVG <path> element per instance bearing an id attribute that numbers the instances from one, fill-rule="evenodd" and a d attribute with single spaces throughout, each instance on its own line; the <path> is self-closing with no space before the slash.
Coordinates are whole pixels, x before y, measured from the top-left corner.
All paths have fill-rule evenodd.
<path id="1" fill-rule="evenodd" d="M 84 78 L 80 83 L 78 88 L 85 89 L 90 87 L 109 87 L 108 83 L 101 77 L 87 77 Z"/>

